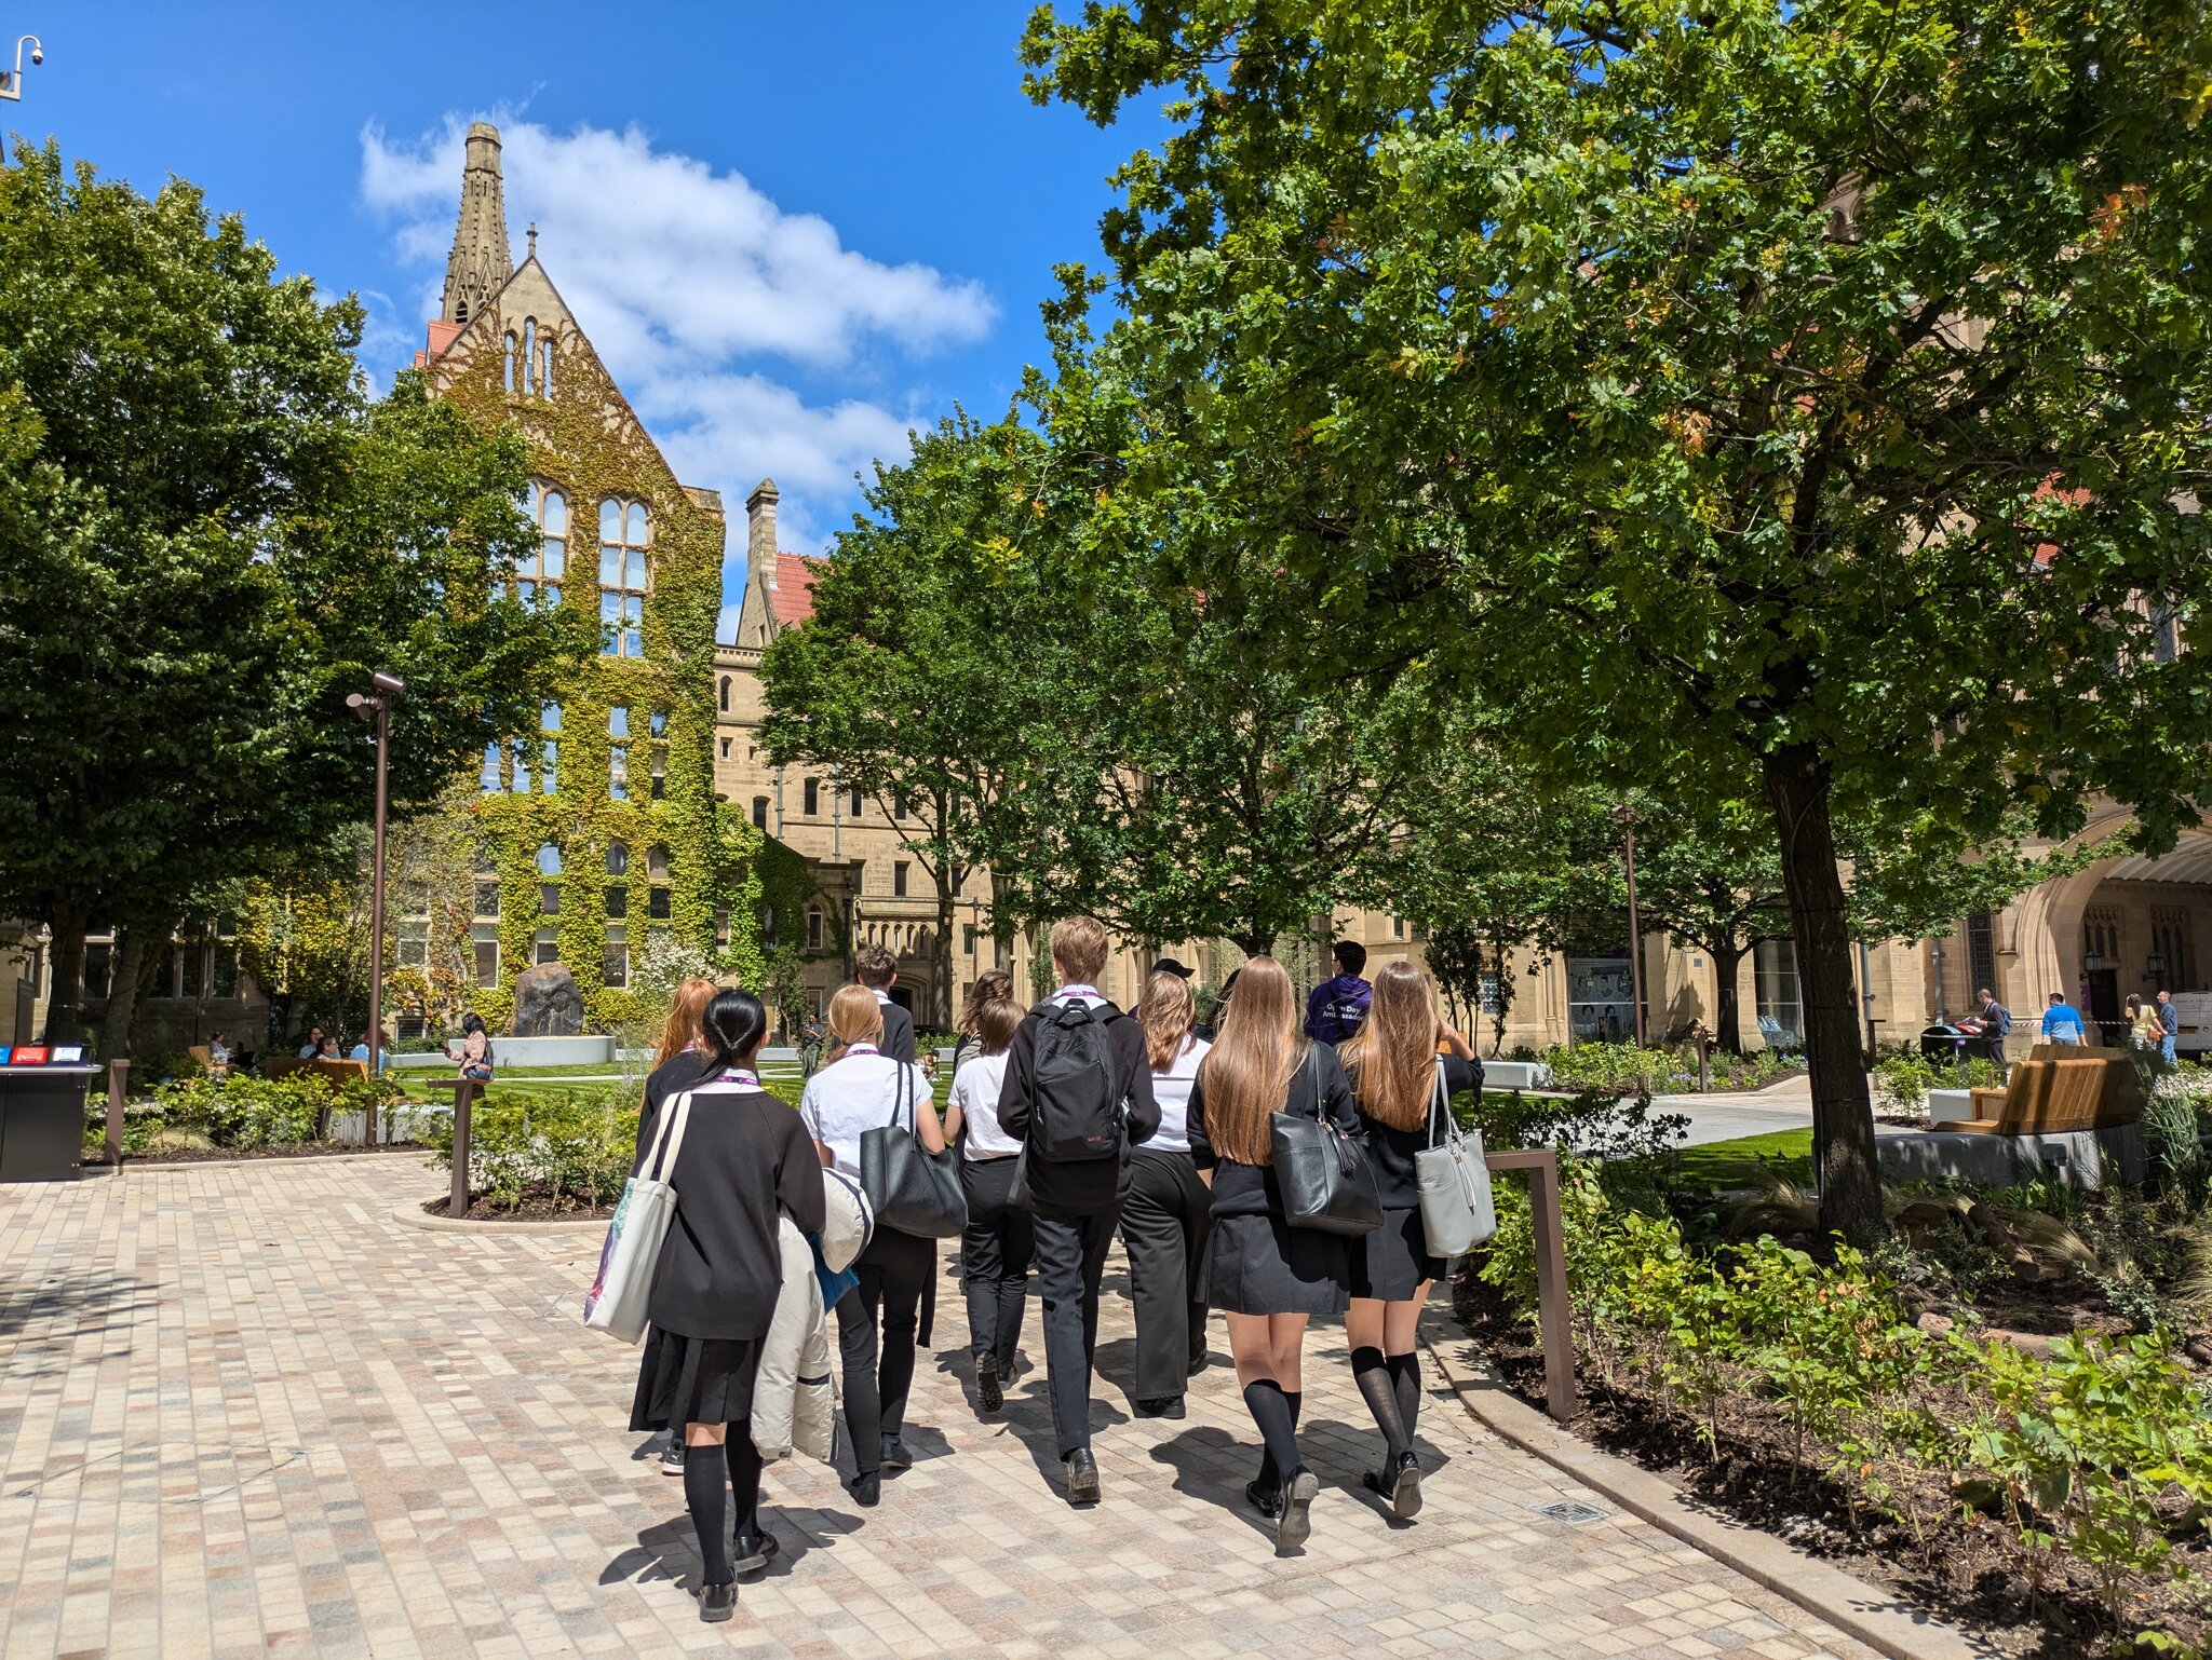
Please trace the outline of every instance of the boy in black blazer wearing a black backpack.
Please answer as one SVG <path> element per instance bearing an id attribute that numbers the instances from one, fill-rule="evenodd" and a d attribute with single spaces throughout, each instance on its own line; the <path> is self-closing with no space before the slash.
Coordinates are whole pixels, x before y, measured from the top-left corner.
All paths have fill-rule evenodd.
<path id="1" fill-rule="evenodd" d="M 1093 917 L 1053 924 L 1060 990 L 1022 1017 L 1006 1046 L 998 1123 L 1022 1143 L 1044 1304 L 1044 1381 L 1068 1503 L 1099 1501 L 1091 1457 L 1091 1364 L 1099 1337 L 1099 1275 L 1128 1187 L 1130 1147 L 1159 1127 L 1144 1032 L 1097 988 L 1106 928 Z"/>

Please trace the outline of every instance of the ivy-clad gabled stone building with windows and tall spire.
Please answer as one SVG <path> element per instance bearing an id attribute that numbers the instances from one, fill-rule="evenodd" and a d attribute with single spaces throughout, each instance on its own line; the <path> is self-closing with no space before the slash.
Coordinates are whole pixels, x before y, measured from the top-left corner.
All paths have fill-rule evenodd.
<path id="1" fill-rule="evenodd" d="M 431 396 L 526 438 L 540 548 L 511 592 L 593 617 L 599 656 L 535 736 L 484 752 L 462 904 L 431 884 L 394 895 L 400 999 L 427 986 L 451 1001 L 460 979 L 498 1026 L 515 977 L 560 962 L 608 1026 L 657 935 L 757 977 L 759 842 L 714 802 L 721 497 L 677 480 L 540 263 L 535 228 L 513 263 L 500 135 L 482 122 L 416 367 Z"/>

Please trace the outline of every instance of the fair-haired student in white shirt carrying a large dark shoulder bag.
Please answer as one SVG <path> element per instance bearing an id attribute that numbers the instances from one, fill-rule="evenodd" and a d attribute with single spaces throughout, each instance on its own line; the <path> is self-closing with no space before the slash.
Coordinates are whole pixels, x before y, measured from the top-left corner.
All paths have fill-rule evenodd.
<path id="1" fill-rule="evenodd" d="M 867 986 L 843 986 L 830 999 L 830 1063 L 807 1079 L 799 1116 L 821 1160 L 860 1176 L 860 1136 L 883 1125 L 914 1125 L 916 1141 L 945 1152 L 945 1132 L 929 1079 L 911 1061 L 883 1052 L 883 1012 Z M 911 1028 L 909 1028 L 911 1030 Z M 936 1240 L 876 1227 L 852 1271 L 860 1284 L 838 1297 L 836 1335 L 845 1373 L 845 1432 L 852 1437 L 860 1505 L 883 1496 L 883 1470 L 907 1470 L 902 1441 L 907 1390 L 914 1386 L 914 1333 L 922 1291 L 936 1271 Z M 878 1353 L 880 1351 L 880 1353 Z"/>

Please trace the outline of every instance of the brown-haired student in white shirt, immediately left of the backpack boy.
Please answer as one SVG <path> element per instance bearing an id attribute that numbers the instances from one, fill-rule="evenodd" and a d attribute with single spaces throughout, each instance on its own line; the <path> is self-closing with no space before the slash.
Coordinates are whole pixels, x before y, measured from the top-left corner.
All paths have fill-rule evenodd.
<path id="1" fill-rule="evenodd" d="M 1022 1008 L 1011 997 L 991 997 L 980 1008 L 971 1004 L 960 1021 L 960 1041 L 971 1048 L 953 1072 L 945 1138 L 960 1147 L 960 1191 L 969 1205 L 969 1220 L 960 1231 L 960 1286 L 969 1306 L 975 1410 L 995 1412 L 1006 1404 L 1004 1386 L 1013 1377 L 1022 1342 L 1029 1264 L 1037 1253 L 1029 1211 L 1013 1202 L 1022 1143 L 998 1123 L 1006 1046 L 1022 1023 Z"/>

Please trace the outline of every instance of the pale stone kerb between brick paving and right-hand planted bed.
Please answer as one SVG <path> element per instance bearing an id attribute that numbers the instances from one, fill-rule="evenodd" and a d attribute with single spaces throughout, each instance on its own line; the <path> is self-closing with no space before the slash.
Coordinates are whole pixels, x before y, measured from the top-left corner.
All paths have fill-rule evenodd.
<path id="1" fill-rule="evenodd" d="M 1431 1333 L 1422 1344 L 1451 1384 L 1451 1393 L 1460 1397 L 1460 1406 L 1522 1452 L 1575 1477 L 1628 1514 L 1641 1516 L 1659 1532 L 1736 1569 L 1807 1614 L 1818 1614 L 1891 1660 L 1984 1660 L 1991 1653 L 1958 1627 L 1936 1620 L 1878 1585 L 1807 1556 L 1774 1534 L 1699 1510 L 1666 1477 L 1628 1459 L 1615 1459 L 1579 1435 L 1562 1430 L 1475 1359 L 1473 1339 L 1458 1331 L 1449 1304 L 1444 1317 L 1453 1320 L 1453 1337 L 1440 1339 Z"/>

